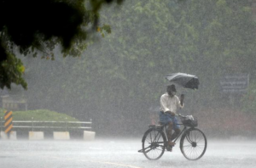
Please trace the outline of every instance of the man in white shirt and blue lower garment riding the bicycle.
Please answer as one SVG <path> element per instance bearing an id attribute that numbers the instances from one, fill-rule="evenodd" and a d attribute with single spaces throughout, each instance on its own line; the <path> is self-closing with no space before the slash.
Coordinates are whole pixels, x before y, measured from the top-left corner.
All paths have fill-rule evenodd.
<path id="1" fill-rule="evenodd" d="M 177 108 L 183 108 L 183 99 L 184 95 L 181 95 L 181 99 L 176 96 L 176 87 L 175 85 L 167 86 L 167 92 L 160 97 L 160 123 L 168 125 L 167 128 L 167 137 L 168 137 L 168 146 L 167 150 L 172 151 L 172 146 L 175 143 L 172 142 L 172 139 L 175 138 L 179 133 L 180 129 L 177 125 L 177 118 L 175 117 Z M 172 136 L 172 129 L 175 131 Z"/>

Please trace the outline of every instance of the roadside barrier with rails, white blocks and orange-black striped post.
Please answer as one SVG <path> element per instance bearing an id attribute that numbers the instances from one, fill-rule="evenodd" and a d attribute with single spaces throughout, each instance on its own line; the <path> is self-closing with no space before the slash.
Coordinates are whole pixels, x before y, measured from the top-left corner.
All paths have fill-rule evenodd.
<path id="1" fill-rule="evenodd" d="M 9 114 L 9 113 L 8 113 Z M 11 114 L 12 115 L 12 114 Z M 10 119 L 11 115 L 6 115 Z M 11 117 L 12 119 L 12 117 Z M 11 124 L 10 124 L 11 123 Z M 11 120 L 8 122 L 6 120 L 0 120 L 0 139 L 17 139 L 16 132 L 11 132 L 10 130 L 20 130 L 28 129 L 31 130 L 28 132 L 29 140 L 44 140 L 44 132 L 52 131 L 53 138 L 55 140 L 68 140 L 70 139 L 69 131 L 81 130 L 84 133 L 84 140 L 93 140 L 95 138 L 95 132 L 92 130 L 92 120 L 90 121 L 45 121 L 45 120 Z M 6 126 L 9 126 L 6 129 Z M 3 132 L 4 130 L 4 132 Z M 8 133 L 5 131 L 8 130 Z M 8 137 L 9 135 L 9 137 Z"/>

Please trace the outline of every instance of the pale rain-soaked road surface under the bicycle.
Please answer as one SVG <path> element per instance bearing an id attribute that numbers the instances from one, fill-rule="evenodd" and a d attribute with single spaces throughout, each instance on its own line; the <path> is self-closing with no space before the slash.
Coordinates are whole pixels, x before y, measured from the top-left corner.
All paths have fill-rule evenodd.
<path id="1" fill-rule="evenodd" d="M 83 141 L 0 141 L 0 167 L 9 168 L 153 168 L 229 167 L 255 168 L 256 142 L 208 140 L 206 154 L 197 161 L 183 157 L 178 146 L 160 160 L 137 153 L 140 139 Z"/>

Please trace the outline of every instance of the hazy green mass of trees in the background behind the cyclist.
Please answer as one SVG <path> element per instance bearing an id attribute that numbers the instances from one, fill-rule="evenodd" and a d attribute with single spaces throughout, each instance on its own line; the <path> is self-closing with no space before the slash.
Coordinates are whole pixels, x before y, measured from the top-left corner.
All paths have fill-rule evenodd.
<path id="1" fill-rule="evenodd" d="M 201 82 L 199 92 L 177 87 L 186 94 L 183 110 L 193 114 L 206 107 L 215 112 L 224 102 L 220 76 L 255 74 L 250 5 L 238 0 L 143 0 L 125 1 L 117 13 L 104 8 L 101 21 L 111 25 L 112 33 L 87 48 L 84 57 L 56 57 L 50 63 L 33 59 L 33 67 L 26 66 L 25 77 L 32 84 L 28 98 L 40 108 L 92 117 L 109 132 L 116 132 L 110 119 L 120 118 L 125 128 L 119 129 L 129 126 L 136 132 L 147 125 L 148 109 L 159 105 L 167 84 L 164 75 L 181 71 Z M 44 81 L 33 79 L 33 71 Z"/>

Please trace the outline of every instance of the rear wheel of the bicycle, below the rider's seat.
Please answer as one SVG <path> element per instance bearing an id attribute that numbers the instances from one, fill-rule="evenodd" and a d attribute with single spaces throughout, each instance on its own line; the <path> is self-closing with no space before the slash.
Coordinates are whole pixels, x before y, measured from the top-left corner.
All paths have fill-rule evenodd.
<path id="1" fill-rule="evenodd" d="M 148 160 L 159 160 L 165 153 L 166 136 L 160 130 L 153 128 L 143 136 L 143 154 Z"/>

